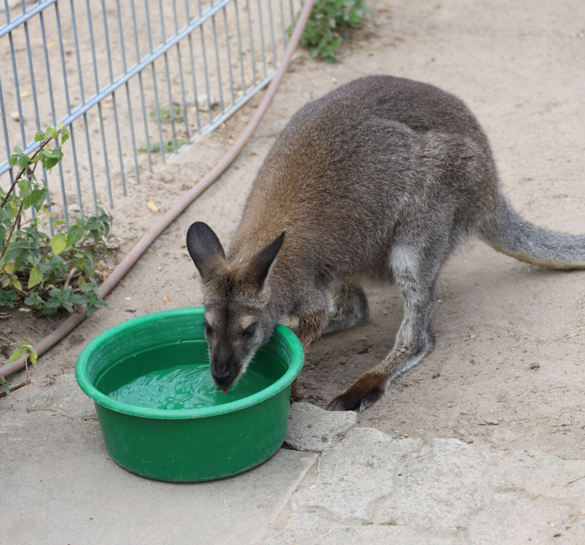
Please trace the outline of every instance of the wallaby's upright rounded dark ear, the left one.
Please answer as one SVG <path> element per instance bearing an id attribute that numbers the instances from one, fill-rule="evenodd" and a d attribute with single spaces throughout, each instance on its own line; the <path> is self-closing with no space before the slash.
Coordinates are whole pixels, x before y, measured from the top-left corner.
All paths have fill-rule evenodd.
<path id="1" fill-rule="evenodd" d="M 226 268 L 225 252 L 218 236 L 203 222 L 191 224 L 187 231 L 187 250 L 204 282 Z"/>

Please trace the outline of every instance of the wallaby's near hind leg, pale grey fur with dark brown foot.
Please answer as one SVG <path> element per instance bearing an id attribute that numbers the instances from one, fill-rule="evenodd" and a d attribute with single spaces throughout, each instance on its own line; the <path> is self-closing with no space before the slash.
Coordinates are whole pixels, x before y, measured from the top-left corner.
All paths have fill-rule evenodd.
<path id="1" fill-rule="evenodd" d="M 430 253 L 430 252 L 429 252 Z M 443 258 L 410 246 L 396 246 L 390 257 L 394 280 L 404 300 L 404 316 L 394 348 L 329 404 L 332 411 L 363 411 L 401 372 L 416 365 L 433 347 L 433 288 Z"/>

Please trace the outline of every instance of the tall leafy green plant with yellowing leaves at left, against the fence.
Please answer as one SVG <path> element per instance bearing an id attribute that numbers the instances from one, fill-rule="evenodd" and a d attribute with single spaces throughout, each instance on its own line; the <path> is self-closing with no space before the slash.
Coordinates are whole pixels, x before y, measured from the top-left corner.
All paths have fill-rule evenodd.
<path id="1" fill-rule="evenodd" d="M 47 234 L 43 223 L 50 217 L 44 205 L 46 182 L 37 180 L 35 169 L 41 163 L 50 170 L 61 161 L 61 146 L 51 149 L 49 145 L 58 136 L 61 144 L 66 142 L 67 129 L 58 126 L 39 131 L 35 136 L 39 149 L 32 156 L 16 146 L 9 158 L 9 164 L 20 170 L 7 192 L 0 188 L 0 306 L 14 308 L 22 301 L 43 314 L 52 314 L 60 308 L 73 312 L 86 305 L 91 315 L 106 306 L 98 295 L 94 253 L 106 251 L 112 216 L 98 206 L 96 215 L 77 218 L 74 223 L 56 220 L 53 226 L 58 232 L 52 237 Z M 36 215 L 25 220 L 23 212 L 31 208 Z"/>

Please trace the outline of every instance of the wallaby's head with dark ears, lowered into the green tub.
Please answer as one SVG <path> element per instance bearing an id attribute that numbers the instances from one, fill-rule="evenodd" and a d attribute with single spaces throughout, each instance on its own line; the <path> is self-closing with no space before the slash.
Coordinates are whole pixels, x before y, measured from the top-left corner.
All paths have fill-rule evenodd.
<path id="1" fill-rule="evenodd" d="M 211 375 L 227 392 L 274 330 L 267 277 L 284 241 L 284 232 L 253 256 L 231 266 L 211 227 L 195 222 L 187 231 L 187 250 L 201 274 L 205 338 Z"/>

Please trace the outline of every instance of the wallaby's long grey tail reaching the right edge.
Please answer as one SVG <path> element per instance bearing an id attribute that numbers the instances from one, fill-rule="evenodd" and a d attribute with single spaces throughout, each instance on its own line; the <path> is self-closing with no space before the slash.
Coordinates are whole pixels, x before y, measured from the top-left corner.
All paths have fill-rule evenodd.
<path id="1" fill-rule="evenodd" d="M 585 235 L 552 233 L 521 218 L 504 195 L 495 198 L 494 213 L 480 226 L 481 238 L 520 261 L 556 269 L 585 268 Z"/>

